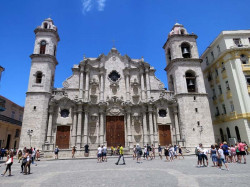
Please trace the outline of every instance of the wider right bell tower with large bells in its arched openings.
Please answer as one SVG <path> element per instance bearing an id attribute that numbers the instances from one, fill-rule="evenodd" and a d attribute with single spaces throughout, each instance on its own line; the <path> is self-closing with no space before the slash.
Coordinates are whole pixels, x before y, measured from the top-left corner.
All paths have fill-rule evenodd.
<path id="1" fill-rule="evenodd" d="M 178 103 L 175 136 L 190 151 L 199 143 L 205 147 L 215 143 L 196 39 L 197 35 L 189 34 L 183 25 L 176 23 L 163 46 L 169 90 Z"/>

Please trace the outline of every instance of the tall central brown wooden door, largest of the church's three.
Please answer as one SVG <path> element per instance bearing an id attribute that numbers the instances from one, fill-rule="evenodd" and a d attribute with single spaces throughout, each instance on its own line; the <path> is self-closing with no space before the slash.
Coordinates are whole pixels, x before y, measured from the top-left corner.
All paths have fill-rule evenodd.
<path id="1" fill-rule="evenodd" d="M 106 119 L 107 146 L 125 146 L 124 116 L 107 116 Z"/>

